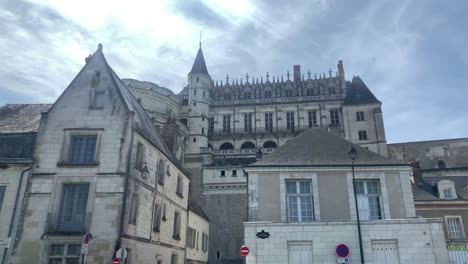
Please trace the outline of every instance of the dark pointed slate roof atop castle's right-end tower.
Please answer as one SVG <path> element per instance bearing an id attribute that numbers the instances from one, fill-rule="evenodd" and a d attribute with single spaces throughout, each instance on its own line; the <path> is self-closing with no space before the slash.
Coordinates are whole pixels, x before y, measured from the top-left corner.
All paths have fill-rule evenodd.
<path id="1" fill-rule="evenodd" d="M 343 105 L 380 104 L 359 76 L 353 77 Z"/>

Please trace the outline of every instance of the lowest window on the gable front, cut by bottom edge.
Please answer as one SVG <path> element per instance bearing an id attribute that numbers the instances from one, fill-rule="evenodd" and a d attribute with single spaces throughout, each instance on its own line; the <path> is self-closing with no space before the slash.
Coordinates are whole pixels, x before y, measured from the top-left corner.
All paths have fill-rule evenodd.
<path id="1" fill-rule="evenodd" d="M 49 264 L 78 264 L 81 244 L 52 244 L 49 246 Z"/>

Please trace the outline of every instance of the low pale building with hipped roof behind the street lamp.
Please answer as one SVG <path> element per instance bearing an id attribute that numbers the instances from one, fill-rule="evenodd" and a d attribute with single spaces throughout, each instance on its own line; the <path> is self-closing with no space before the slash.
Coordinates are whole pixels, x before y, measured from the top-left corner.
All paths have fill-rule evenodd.
<path id="1" fill-rule="evenodd" d="M 361 263 L 351 146 L 365 263 L 448 263 L 442 221 L 415 218 L 407 163 L 311 128 L 245 168 L 248 264 Z"/>

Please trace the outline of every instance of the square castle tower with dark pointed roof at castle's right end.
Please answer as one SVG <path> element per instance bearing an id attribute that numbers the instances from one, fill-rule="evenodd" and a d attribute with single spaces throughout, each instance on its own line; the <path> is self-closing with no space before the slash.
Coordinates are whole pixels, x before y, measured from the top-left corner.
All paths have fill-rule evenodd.
<path id="1" fill-rule="evenodd" d="M 353 77 L 343 103 L 345 138 L 387 156 L 382 102 L 359 77 Z"/>

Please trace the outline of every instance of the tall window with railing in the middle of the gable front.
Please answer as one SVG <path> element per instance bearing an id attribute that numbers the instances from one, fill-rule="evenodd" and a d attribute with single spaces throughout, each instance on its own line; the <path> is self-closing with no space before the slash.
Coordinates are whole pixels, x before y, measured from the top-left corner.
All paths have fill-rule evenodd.
<path id="1" fill-rule="evenodd" d="M 86 229 L 89 184 L 64 184 L 58 217 L 58 231 L 80 232 Z"/>

